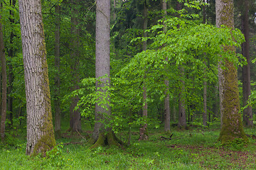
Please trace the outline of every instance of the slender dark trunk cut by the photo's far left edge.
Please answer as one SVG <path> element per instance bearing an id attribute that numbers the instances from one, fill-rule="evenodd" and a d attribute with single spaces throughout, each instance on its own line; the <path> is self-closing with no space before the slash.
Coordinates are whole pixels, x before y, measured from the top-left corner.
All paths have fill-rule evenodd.
<path id="1" fill-rule="evenodd" d="M 1 6 L 1 4 L 0 4 Z M 2 6 L 1 6 L 2 8 Z M 6 76 L 6 56 L 4 52 L 4 36 L 3 28 L 1 25 L 1 15 L 0 15 L 0 57 L 1 57 L 1 76 L 2 76 L 2 97 L 1 97 L 1 142 L 4 142 L 5 133 L 5 122 L 6 122 L 6 94 L 7 94 L 7 76 Z"/>

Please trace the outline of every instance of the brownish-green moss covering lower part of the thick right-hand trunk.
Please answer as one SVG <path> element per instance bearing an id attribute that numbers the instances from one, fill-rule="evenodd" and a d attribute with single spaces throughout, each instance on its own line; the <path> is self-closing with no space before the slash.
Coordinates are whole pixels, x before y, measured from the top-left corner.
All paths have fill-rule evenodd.
<path id="1" fill-rule="evenodd" d="M 242 127 L 240 114 L 240 101 L 238 91 L 238 73 L 232 62 L 225 61 L 224 86 L 223 86 L 223 126 L 220 130 L 220 140 L 223 144 L 236 138 L 247 141 L 247 136 Z"/>

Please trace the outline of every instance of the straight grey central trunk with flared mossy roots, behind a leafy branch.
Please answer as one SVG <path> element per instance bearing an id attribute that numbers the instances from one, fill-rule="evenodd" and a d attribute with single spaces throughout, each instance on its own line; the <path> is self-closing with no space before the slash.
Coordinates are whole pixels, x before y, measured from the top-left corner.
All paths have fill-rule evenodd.
<path id="1" fill-rule="evenodd" d="M 96 1 L 96 52 L 95 52 L 95 74 L 101 78 L 96 82 L 96 91 L 107 93 L 106 86 L 110 86 L 110 0 Z M 105 98 L 106 99 L 106 98 Z M 104 106 L 100 103 L 95 105 L 95 126 L 90 139 L 92 147 L 104 145 L 117 145 L 119 142 L 114 136 L 111 128 L 105 128 L 108 123 L 107 116 L 111 114 L 110 96 L 107 96 Z"/>

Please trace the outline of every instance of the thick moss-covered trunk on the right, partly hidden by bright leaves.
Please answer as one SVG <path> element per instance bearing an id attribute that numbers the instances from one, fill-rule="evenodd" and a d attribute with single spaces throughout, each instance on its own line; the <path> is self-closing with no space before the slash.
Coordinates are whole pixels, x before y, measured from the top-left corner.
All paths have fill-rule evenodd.
<path id="1" fill-rule="evenodd" d="M 216 0 L 216 24 L 234 28 L 233 0 Z M 224 50 L 235 50 L 234 47 L 225 47 Z M 233 64 L 225 60 L 225 69 L 219 67 L 220 102 L 222 125 L 219 140 L 225 144 L 236 138 L 247 140 L 242 128 L 240 102 L 238 92 L 238 72 Z"/>

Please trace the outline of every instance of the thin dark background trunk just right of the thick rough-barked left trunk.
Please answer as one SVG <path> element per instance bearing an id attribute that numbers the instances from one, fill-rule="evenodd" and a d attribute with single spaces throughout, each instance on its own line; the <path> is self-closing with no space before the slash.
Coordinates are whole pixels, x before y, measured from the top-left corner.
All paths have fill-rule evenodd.
<path id="1" fill-rule="evenodd" d="M 61 109 L 60 109 L 60 5 L 55 5 L 55 68 L 58 70 L 55 75 L 55 136 L 60 137 Z"/>

